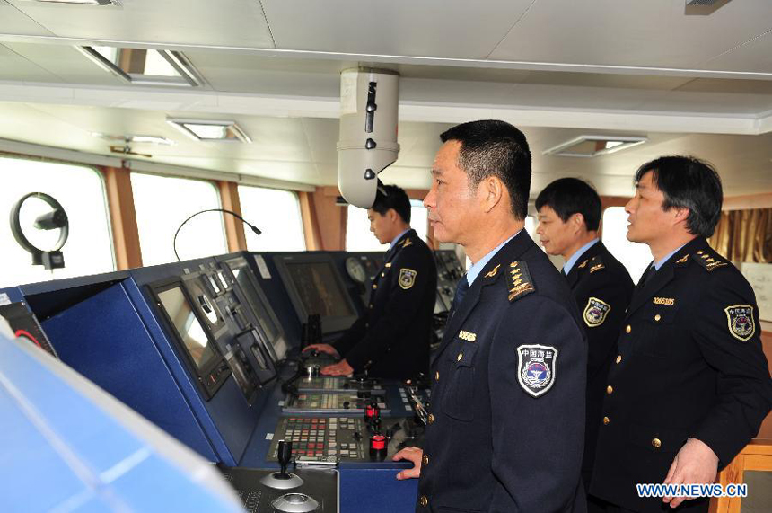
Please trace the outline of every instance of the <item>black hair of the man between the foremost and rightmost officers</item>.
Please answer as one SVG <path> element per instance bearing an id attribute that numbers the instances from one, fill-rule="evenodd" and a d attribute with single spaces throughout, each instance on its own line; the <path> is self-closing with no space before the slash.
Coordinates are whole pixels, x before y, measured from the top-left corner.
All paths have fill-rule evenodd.
<path id="1" fill-rule="evenodd" d="M 578 178 L 560 178 L 550 183 L 536 197 L 536 209 L 549 207 L 565 223 L 568 217 L 582 214 L 589 232 L 601 226 L 601 197 L 592 185 Z"/>

